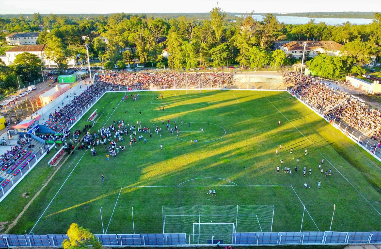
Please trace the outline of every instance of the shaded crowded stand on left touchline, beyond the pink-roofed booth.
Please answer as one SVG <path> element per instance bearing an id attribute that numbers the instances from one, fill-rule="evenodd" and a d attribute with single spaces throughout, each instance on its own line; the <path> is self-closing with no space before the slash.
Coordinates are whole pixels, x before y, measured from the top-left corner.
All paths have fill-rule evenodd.
<path id="1" fill-rule="evenodd" d="M 98 87 L 94 85 L 88 86 L 82 94 L 76 95 L 73 100 L 69 98 L 68 104 L 61 108 L 58 106 L 58 110 L 54 109 L 54 113 L 50 113 L 48 121 L 43 124 L 55 132 L 64 130 L 64 135 L 68 136 L 67 124 L 75 121 L 82 109 L 100 94 L 101 91 Z"/>

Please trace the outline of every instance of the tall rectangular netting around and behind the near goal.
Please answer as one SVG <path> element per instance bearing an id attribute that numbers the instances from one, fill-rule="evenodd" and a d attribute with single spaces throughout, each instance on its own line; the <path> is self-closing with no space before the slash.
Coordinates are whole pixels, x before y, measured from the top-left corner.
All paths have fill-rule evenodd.
<path id="1" fill-rule="evenodd" d="M 272 232 L 273 219 L 274 205 L 163 206 L 163 233 L 186 233 L 194 236 L 194 243 L 200 238 L 200 243 L 205 244 L 211 236 L 221 240 L 214 234 L 226 234 L 227 231 L 230 238 L 233 232 Z"/>

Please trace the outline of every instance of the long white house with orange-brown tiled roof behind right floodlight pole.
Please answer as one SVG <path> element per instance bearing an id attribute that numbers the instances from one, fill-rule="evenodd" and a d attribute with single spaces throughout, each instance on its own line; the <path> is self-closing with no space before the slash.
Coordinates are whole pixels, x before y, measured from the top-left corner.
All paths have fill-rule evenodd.
<path id="1" fill-rule="evenodd" d="M 305 41 L 306 57 L 315 57 L 319 54 L 328 54 L 330 56 L 339 56 L 340 49 L 343 45 L 335 41 Z M 286 54 L 291 55 L 295 59 L 302 59 L 303 41 L 290 41 L 279 46 Z"/>

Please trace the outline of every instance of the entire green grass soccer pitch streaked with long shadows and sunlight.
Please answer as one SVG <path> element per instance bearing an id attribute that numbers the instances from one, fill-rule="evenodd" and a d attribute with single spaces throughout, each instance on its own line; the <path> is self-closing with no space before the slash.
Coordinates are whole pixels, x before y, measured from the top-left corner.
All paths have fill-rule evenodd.
<path id="1" fill-rule="evenodd" d="M 96 157 L 90 150 L 75 151 L 10 233 L 66 233 L 72 222 L 102 233 L 101 207 L 107 233 L 133 233 L 131 208 L 135 233 L 162 233 L 162 206 L 190 205 L 275 205 L 272 231 L 299 231 L 303 204 L 308 211 L 303 231 L 329 230 L 334 204 L 333 231 L 381 230 L 381 164 L 298 100 L 289 100 L 287 92 L 157 91 L 121 102 L 123 95 L 104 95 L 74 129 L 89 124 L 87 117 L 98 109 L 90 132 L 114 120 L 141 121 L 153 130 L 152 138 L 143 134 L 147 144 L 129 147 L 124 136 L 118 145 L 126 151 L 109 161 L 103 146 L 95 148 Z M 179 136 L 168 133 L 167 119 L 171 127 L 176 120 Z M 163 129 L 161 138 L 154 124 Z M 199 142 L 191 144 L 195 139 Z M 323 158 L 324 171 L 332 170 L 329 177 L 318 172 Z M 46 167 L 47 160 L 2 202 L 8 208 L 0 221 L 15 219 L 29 201 L 21 194 L 33 196 L 50 177 L 55 168 Z M 280 160 L 293 170 L 291 176 Z M 304 166 L 312 168 L 311 175 L 303 177 Z M 216 196 L 207 195 L 209 189 Z"/>

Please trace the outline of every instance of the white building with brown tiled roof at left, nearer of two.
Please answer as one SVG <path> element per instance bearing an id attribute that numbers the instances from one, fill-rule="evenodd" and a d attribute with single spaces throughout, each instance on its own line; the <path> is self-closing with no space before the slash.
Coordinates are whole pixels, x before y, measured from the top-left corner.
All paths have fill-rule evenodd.
<path id="1" fill-rule="evenodd" d="M 16 46 L 11 49 L 8 49 L 5 51 L 5 56 L 0 56 L 0 59 L 2 59 L 5 62 L 5 65 L 10 65 L 13 63 L 13 61 L 16 59 L 16 56 L 18 54 L 22 54 L 24 52 L 28 52 L 31 54 L 37 55 L 38 58 L 40 58 L 44 64 L 48 67 L 54 67 L 57 65 L 56 62 L 53 60 L 49 60 L 45 56 L 45 45 L 21 45 L 21 46 Z M 76 66 L 77 61 L 75 58 L 71 58 L 67 61 L 67 64 L 69 66 Z"/>

